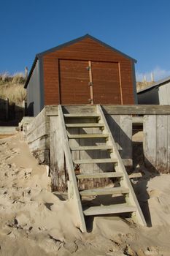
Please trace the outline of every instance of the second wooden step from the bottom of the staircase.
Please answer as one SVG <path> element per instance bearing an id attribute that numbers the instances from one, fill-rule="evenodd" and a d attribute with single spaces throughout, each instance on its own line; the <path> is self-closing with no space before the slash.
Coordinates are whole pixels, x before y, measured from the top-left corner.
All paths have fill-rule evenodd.
<path id="1" fill-rule="evenodd" d="M 90 197 L 91 195 L 117 195 L 128 194 L 129 189 L 125 187 L 105 187 L 98 189 L 85 189 L 80 191 L 80 195 Z"/>

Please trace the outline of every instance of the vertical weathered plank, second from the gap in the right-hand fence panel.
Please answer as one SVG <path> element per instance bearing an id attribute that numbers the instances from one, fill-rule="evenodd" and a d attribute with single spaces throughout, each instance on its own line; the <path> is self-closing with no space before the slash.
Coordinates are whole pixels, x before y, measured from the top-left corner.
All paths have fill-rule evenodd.
<path id="1" fill-rule="evenodd" d="M 168 157 L 168 123 L 167 116 L 157 116 L 156 118 L 156 170 L 159 173 L 166 173 Z"/>

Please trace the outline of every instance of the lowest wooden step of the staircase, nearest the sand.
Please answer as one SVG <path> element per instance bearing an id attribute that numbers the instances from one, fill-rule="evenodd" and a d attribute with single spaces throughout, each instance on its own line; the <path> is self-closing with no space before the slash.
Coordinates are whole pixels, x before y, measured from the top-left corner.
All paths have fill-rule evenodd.
<path id="1" fill-rule="evenodd" d="M 103 215 L 103 214 L 123 214 L 136 211 L 135 206 L 127 203 L 115 204 L 110 206 L 91 206 L 83 211 L 85 216 Z"/>

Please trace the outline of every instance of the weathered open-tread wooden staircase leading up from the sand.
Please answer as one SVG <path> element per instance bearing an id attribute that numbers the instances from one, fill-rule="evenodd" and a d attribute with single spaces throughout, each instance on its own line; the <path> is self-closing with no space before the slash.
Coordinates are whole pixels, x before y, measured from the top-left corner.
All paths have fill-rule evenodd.
<path id="1" fill-rule="evenodd" d="M 140 225 L 146 225 L 138 200 L 131 186 L 131 181 L 128 178 L 123 159 L 121 159 L 117 151 L 116 143 L 109 130 L 106 118 L 100 105 L 96 105 L 96 113 L 65 113 L 61 105 L 58 106 L 58 116 L 61 125 L 61 136 L 63 137 L 63 151 L 66 157 L 66 167 L 69 173 L 69 198 L 73 198 L 75 206 L 77 207 L 78 220 L 77 226 L 82 232 L 86 232 L 85 216 L 102 215 L 102 214 L 131 214 L 135 222 Z M 91 121 L 89 121 L 91 120 Z M 98 133 L 82 133 L 72 134 L 72 129 L 96 128 Z M 96 143 L 95 145 L 81 146 L 80 143 L 72 146 L 71 140 L 104 140 L 104 143 Z M 88 159 L 74 159 L 72 152 L 74 151 L 107 151 L 109 157 L 107 158 L 88 158 Z M 104 170 L 104 172 L 91 173 L 90 169 L 85 173 L 81 172 L 81 165 L 111 165 L 112 170 Z M 79 173 L 77 173 L 77 167 Z M 84 180 L 91 180 L 96 178 L 109 178 L 112 185 L 107 187 L 93 187 L 92 189 L 79 189 L 79 182 L 83 184 Z M 116 182 L 114 182 L 116 181 Z M 90 198 L 105 197 L 109 195 L 116 203 L 105 205 L 101 203 L 99 206 L 90 206 Z M 87 199 L 88 200 L 85 200 Z M 119 198 L 121 198 L 119 202 Z M 85 205 L 83 204 L 85 200 Z M 92 200 L 93 201 L 93 200 Z M 88 202 L 88 203 L 87 203 Z"/>

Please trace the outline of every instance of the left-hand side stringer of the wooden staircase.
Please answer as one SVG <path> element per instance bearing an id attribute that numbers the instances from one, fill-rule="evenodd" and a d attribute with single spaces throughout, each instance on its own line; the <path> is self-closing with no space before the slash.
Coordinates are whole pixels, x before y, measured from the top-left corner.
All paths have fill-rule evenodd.
<path id="1" fill-rule="evenodd" d="M 85 218 L 84 218 L 84 214 L 82 212 L 82 203 L 81 203 L 81 199 L 80 199 L 80 194 L 79 194 L 79 190 L 77 187 L 77 179 L 74 173 L 74 164 L 72 161 L 72 154 L 70 151 L 70 147 L 69 147 L 69 140 L 68 140 L 68 136 L 66 133 L 66 124 L 63 118 L 63 110 L 61 105 L 58 105 L 58 117 L 59 117 L 59 121 L 60 121 L 60 131 L 61 132 L 61 137 L 63 138 L 63 151 L 66 157 L 66 167 L 69 173 L 69 181 L 72 184 L 72 197 L 74 199 L 75 202 L 75 206 L 77 206 L 77 213 L 78 213 L 78 217 L 79 217 L 79 221 L 77 223 L 77 226 L 80 225 L 80 230 L 82 230 L 82 232 L 87 232 L 86 230 L 86 225 L 85 225 Z"/>

